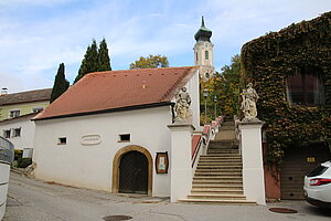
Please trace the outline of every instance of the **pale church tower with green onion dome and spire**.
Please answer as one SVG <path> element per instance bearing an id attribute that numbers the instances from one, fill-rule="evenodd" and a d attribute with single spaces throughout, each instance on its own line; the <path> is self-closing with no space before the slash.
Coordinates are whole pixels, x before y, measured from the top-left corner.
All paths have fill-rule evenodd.
<path id="1" fill-rule="evenodd" d="M 214 75 L 214 44 L 211 42 L 212 31 L 205 28 L 202 17 L 201 28 L 194 35 L 194 66 L 199 66 L 200 77 L 204 81 Z"/>

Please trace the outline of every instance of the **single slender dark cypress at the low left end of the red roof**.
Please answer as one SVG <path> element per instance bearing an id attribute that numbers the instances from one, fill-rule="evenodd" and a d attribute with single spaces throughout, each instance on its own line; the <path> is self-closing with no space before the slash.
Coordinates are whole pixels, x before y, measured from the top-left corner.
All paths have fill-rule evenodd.
<path id="1" fill-rule="evenodd" d="M 65 78 L 64 74 L 64 63 L 61 63 L 57 70 L 57 74 L 55 75 L 50 103 L 54 102 L 57 97 L 60 97 L 68 87 L 70 83 Z"/>

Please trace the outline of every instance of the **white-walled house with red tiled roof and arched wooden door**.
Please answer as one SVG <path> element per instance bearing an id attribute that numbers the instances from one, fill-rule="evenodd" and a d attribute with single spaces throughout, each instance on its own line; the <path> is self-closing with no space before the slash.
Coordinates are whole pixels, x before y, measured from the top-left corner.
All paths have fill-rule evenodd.
<path id="1" fill-rule="evenodd" d="M 200 128 L 197 67 L 85 75 L 33 118 L 35 177 L 169 197 L 172 152 L 168 125 L 174 120 L 174 97 L 182 87 L 192 99 L 192 125 Z M 157 158 L 160 154 L 167 157 Z M 169 162 L 169 170 L 156 168 L 160 159 Z"/>

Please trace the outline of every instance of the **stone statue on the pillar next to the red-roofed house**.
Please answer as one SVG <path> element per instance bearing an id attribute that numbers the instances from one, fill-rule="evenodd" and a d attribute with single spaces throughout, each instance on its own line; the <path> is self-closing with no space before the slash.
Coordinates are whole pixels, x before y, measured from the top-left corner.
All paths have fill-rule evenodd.
<path id="1" fill-rule="evenodd" d="M 174 112 L 175 112 L 175 123 L 183 123 L 188 122 L 191 117 L 191 96 L 186 92 L 186 87 L 183 87 L 179 90 L 179 92 L 175 94 L 175 105 L 174 105 Z"/>

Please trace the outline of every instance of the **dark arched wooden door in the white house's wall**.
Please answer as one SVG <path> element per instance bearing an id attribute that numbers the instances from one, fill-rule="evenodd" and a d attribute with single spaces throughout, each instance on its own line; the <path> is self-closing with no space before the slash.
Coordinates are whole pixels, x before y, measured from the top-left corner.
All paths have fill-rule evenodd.
<path id="1" fill-rule="evenodd" d="M 119 164 L 119 192 L 147 194 L 148 160 L 139 151 L 125 154 Z"/>

